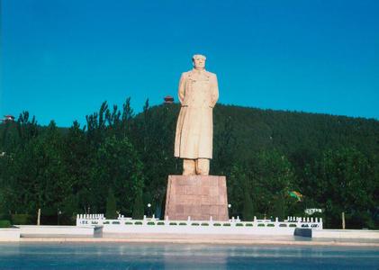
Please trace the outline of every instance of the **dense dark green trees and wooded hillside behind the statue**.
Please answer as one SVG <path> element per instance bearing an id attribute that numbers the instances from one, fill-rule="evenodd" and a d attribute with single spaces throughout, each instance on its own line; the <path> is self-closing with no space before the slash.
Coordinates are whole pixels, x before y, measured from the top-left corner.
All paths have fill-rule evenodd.
<path id="1" fill-rule="evenodd" d="M 40 127 L 28 112 L 1 124 L 0 214 L 163 217 L 167 175 L 182 167 L 173 157 L 178 111 L 147 102 L 134 114 L 127 99 L 122 109 L 103 103 L 83 128 Z M 213 120 L 211 173 L 227 175 L 230 216 L 321 208 L 328 228 L 340 227 L 342 211 L 347 228 L 378 228 L 379 121 L 221 104 Z"/>

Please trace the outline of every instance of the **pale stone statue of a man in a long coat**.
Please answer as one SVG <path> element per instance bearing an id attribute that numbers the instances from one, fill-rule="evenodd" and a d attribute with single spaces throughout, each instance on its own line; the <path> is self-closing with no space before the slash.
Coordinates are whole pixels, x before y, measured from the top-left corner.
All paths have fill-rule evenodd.
<path id="1" fill-rule="evenodd" d="M 180 78 L 182 105 L 176 123 L 175 157 L 184 158 L 183 175 L 209 175 L 212 158 L 212 109 L 219 99 L 217 76 L 205 70 L 205 57 L 194 55 L 194 68 Z"/>

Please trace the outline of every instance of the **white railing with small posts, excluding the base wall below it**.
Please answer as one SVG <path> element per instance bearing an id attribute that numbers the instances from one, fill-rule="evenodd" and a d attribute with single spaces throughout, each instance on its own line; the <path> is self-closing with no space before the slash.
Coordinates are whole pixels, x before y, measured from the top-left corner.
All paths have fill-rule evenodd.
<path id="1" fill-rule="evenodd" d="M 191 226 L 191 227 L 252 227 L 252 228 L 308 228 L 308 229 L 322 229 L 322 219 L 318 218 L 302 218 L 302 217 L 288 217 L 287 220 L 279 221 L 275 220 L 257 220 L 254 217 L 252 221 L 241 221 L 239 217 L 234 217 L 228 221 L 212 220 L 191 220 L 188 217 L 187 220 L 158 220 L 154 217 L 143 217 L 143 220 L 133 220 L 123 215 L 119 215 L 117 220 L 107 220 L 104 218 L 104 214 L 78 214 L 77 226 L 83 225 L 99 225 L 99 226 Z"/>

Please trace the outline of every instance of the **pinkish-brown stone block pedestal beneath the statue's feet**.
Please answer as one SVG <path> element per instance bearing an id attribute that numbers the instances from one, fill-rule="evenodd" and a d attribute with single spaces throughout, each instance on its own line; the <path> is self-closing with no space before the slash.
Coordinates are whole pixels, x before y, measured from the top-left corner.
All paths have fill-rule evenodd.
<path id="1" fill-rule="evenodd" d="M 168 175 L 166 211 L 169 220 L 229 220 L 226 177 Z"/>

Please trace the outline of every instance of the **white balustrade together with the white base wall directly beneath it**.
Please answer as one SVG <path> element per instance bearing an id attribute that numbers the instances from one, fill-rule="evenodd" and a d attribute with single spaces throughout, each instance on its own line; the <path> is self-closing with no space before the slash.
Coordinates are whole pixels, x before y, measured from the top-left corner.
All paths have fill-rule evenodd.
<path id="1" fill-rule="evenodd" d="M 104 232 L 163 232 L 163 233 L 254 233 L 262 232 L 285 232 L 293 233 L 296 228 L 322 229 L 322 219 L 288 217 L 287 220 L 257 220 L 241 221 L 239 218 L 228 221 L 212 220 L 158 220 L 147 218 L 132 220 L 122 215 L 117 220 L 107 220 L 104 214 L 80 214 L 77 215 L 77 226 L 103 226 Z"/>

